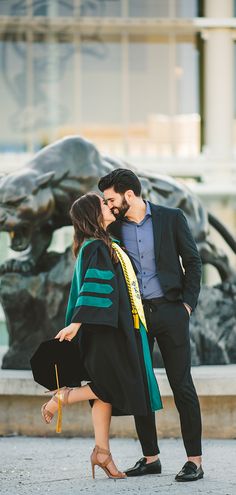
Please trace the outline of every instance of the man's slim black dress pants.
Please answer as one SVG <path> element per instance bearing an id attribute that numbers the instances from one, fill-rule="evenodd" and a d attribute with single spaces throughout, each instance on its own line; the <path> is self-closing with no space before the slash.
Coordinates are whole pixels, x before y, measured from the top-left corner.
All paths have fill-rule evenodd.
<path id="1" fill-rule="evenodd" d="M 201 412 L 190 367 L 189 315 L 180 301 L 165 298 L 143 300 L 151 353 L 157 340 L 166 374 L 180 416 L 187 456 L 200 456 Z M 155 414 L 135 416 L 135 426 L 144 456 L 159 453 Z"/>

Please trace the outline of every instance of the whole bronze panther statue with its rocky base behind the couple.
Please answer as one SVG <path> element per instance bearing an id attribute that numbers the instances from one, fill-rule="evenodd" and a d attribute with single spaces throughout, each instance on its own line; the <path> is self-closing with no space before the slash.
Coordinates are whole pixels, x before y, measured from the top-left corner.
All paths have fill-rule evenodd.
<path id="1" fill-rule="evenodd" d="M 47 249 L 53 233 L 70 225 L 72 202 L 86 191 L 96 189 L 98 179 L 117 167 L 134 170 L 124 162 L 101 156 L 95 146 L 85 139 L 68 137 L 46 146 L 24 168 L 0 179 L 0 231 L 9 232 L 11 248 L 21 252 L 18 258 L 0 266 L 0 299 L 7 319 L 10 344 L 3 358 L 4 368 L 29 368 L 29 358 L 37 345 L 62 328 L 74 261 L 71 248 L 64 253 L 48 252 Z M 170 177 L 137 173 L 145 198 L 184 211 L 203 263 L 216 266 L 223 281 L 230 280 L 233 270 L 226 255 L 208 239 L 210 223 L 236 251 L 235 241 L 223 225 L 207 214 L 200 200 L 184 184 Z M 229 307 L 226 304 L 225 314 L 231 318 L 231 288 L 227 288 L 227 297 L 225 289 L 222 290 L 224 303 L 230 301 Z M 223 296 L 219 291 L 217 294 L 219 305 Z M 204 304 L 205 299 L 204 296 Z M 199 308 L 201 310 L 201 301 Z M 212 306 L 210 314 L 215 312 Z M 194 318 L 192 325 L 196 326 L 196 319 L 202 321 L 201 312 Z M 232 318 L 229 320 L 230 329 Z M 202 328 L 201 323 L 199 332 Z M 204 362 L 202 339 L 205 335 L 197 341 L 199 332 L 194 328 L 196 364 Z M 209 343 L 207 348 L 210 348 Z M 233 362 L 234 354 L 230 355 L 228 351 L 223 357 L 218 357 L 221 356 L 221 349 L 222 342 L 218 354 L 215 353 L 218 361 L 221 364 L 225 362 L 228 353 L 230 357 L 227 359 Z M 208 355 L 213 359 L 214 352 L 211 350 Z"/>

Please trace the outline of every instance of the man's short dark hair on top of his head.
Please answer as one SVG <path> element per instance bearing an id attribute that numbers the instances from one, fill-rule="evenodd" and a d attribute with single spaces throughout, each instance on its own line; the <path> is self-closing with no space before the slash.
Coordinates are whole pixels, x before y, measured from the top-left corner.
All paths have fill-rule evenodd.
<path id="1" fill-rule="evenodd" d="M 141 196 L 141 184 L 137 175 L 126 168 L 117 168 L 107 175 L 104 175 L 98 183 L 100 191 L 114 187 L 114 191 L 124 194 L 131 189 L 135 196 Z"/>

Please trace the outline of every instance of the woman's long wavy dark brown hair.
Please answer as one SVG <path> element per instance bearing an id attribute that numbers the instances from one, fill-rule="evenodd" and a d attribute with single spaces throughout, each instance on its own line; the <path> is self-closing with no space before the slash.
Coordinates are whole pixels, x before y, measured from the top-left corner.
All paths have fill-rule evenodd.
<path id="1" fill-rule="evenodd" d="M 104 241 L 112 260 L 118 261 L 109 233 L 103 227 L 100 198 L 96 193 L 87 193 L 76 199 L 70 209 L 70 217 L 74 226 L 73 253 L 75 257 L 78 256 L 83 242 L 94 238 Z"/>

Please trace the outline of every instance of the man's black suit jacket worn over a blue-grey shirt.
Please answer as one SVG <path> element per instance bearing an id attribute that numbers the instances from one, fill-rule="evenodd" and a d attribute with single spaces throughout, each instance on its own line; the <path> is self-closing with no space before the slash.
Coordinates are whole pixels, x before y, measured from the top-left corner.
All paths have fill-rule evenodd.
<path id="1" fill-rule="evenodd" d="M 200 292 L 201 259 L 187 220 L 179 208 L 150 206 L 157 275 L 164 296 L 169 301 L 183 301 L 194 310 Z M 109 231 L 122 246 L 121 221 L 113 222 Z"/>

